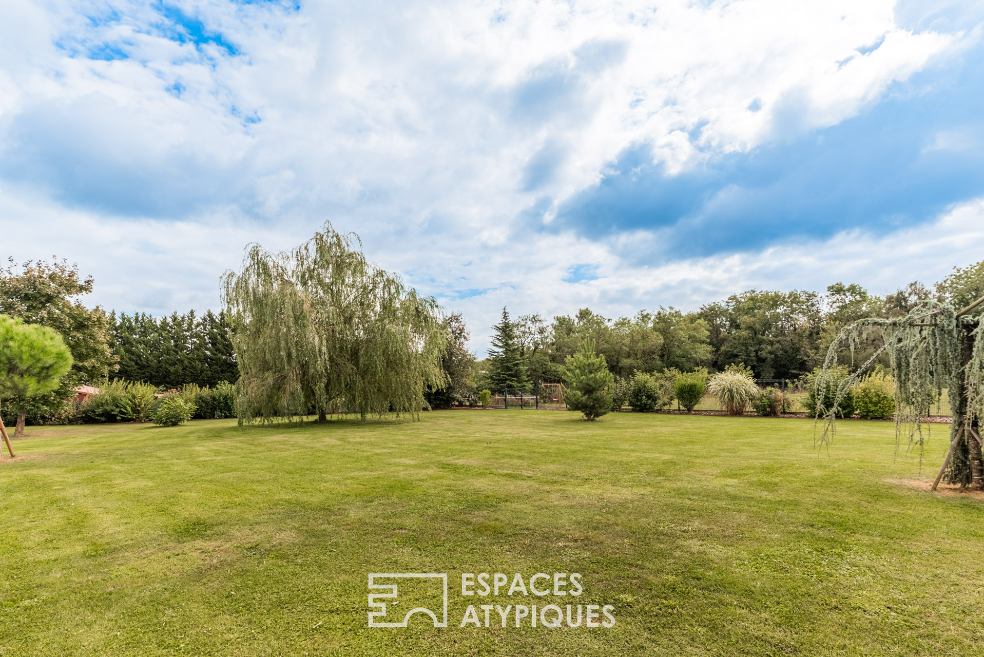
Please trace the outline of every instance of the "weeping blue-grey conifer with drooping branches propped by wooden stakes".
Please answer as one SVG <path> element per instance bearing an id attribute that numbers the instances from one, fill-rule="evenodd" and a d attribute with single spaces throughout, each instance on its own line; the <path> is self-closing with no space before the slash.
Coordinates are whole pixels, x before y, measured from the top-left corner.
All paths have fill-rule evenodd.
<path id="1" fill-rule="evenodd" d="M 817 418 L 823 418 L 821 444 L 830 443 L 839 404 L 850 388 L 883 353 L 888 355 L 895 381 L 895 446 L 907 435 L 910 448 L 923 455 L 923 418 L 942 398 L 950 397 L 953 423 L 950 450 L 933 482 L 933 490 L 948 483 L 984 489 L 984 462 L 979 419 L 984 414 L 984 339 L 980 316 L 969 314 L 984 303 L 984 297 L 956 310 L 952 305 L 924 301 L 908 315 L 892 319 L 867 319 L 843 328 L 830 344 L 823 370 L 817 377 Z M 835 382 L 833 366 L 837 352 L 854 349 L 880 331 L 882 346 L 851 376 Z M 830 408 L 823 405 L 825 393 L 834 389 Z"/>

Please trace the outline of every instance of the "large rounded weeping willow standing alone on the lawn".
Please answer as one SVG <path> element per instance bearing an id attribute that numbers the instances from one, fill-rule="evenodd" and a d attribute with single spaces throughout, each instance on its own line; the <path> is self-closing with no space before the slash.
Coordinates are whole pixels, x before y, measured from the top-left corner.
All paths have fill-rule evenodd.
<path id="1" fill-rule="evenodd" d="M 289 253 L 247 247 L 222 296 L 240 424 L 312 411 L 417 417 L 424 388 L 446 383 L 437 303 L 366 262 L 358 237 L 331 223 Z"/>

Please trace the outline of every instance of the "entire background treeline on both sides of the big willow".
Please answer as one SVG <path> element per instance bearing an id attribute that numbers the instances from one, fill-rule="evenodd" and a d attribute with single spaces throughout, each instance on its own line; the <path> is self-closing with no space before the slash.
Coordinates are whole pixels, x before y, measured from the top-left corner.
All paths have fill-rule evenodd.
<path id="1" fill-rule="evenodd" d="M 0 269 L 0 314 L 54 328 L 75 361 L 57 390 L 27 401 L 4 399 L 4 418 L 16 415 L 19 429 L 26 419 L 31 423 L 57 415 L 81 385 L 123 379 L 155 388 L 215 388 L 238 381 L 224 313 L 107 316 L 78 301 L 91 291 L 92 278 L 83 278 L 64 261 Z M 513 320 L 503 309 L 483 360 L 468 349 L 461 315 L 452 314 L 444 320 L 448 340 L 441 360 L 448 385 L 425 390 L 424 398 L 432 407 L 447 407 L 475 403 L 483 389 L 530 391 L 536 384 L 565 383 L 567 359 L 585 338 L 594 341 L 620 379 L 697 368 L 713 373 L 741 364 L 757 379 L 798 380 L 823 362 L 837 331 L 855 320 L 901 316 L 931 297 L 962 307 L 981 295 L 984 262 L 954 268 L 932 288 L 913 282 L 884 297 L 857 284 L 835 283 L 826 293 L 749 290 L 694 312 L 659 307 L 618 319 L 585 308 L 549 322 L 535 314 Z M 879 339 L 874 331 L 867 343 L 857 345 L 854 362 L 864 362 Z M 850 359 L 844 354 L 841 362 Z"/>

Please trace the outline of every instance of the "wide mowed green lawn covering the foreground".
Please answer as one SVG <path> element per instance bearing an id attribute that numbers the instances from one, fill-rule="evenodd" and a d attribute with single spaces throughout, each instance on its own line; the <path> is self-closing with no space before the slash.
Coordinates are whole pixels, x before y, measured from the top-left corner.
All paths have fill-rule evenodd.
<path id="1" fill-rule="evenodd" d="M 982 654 L 984 503 L 947 428 L 447 411 L 420 422 L 29 428 L 0 463 L 2 655 Z M 584 594 L 461 597 L 461 572 Z M 369 572 L 447 572 L 449 627 L 367 627 Z M 604 628 L 459 627 L 612 604 Z M 480 612 L 481 614 L 481 612 Z"/>

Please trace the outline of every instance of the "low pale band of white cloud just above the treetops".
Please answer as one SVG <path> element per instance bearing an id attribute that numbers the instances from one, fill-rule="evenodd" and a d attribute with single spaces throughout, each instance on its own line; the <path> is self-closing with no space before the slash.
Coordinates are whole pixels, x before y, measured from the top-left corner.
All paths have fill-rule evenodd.
<path id="1" fill-rule="evenodd" d="M 218 307 L 219 276 L 236 269 L 248 242 L 289 249 L 309 236 L 299 225 L 272 228 L 230 214 L 194 221 L 107 220 L 66 212 L 41 199 L 19 200 L 0 189 L 7 209 L 5 237 L 19 261 L 72 254 L 95 277 L 92 303 L 108 309 L 171 310 Z M 31 244 L 38 232 L 44 247 Z M 877 235 L 852 230 L 828 240 L 797 241 L 719 257 L 632 265 L 626 251 L 658 239 L 648 231 L 596 242 L 574 233 L 538 233 L 498 245 L 481 236 L 427 251 L 388 251 L 366 245 L 370 260 L 402 271 L 407 281 L 464 314 L 472 347 L 483 353 L 503 306 L 514 317 L 576 313 L 589 307 L 606 317 L 638 310 L 701 305 L 747 289 L 823 291 L 836 281 L 857 282 L 888 294 L 912 280 L 933 283 L 953 265 L 978 262 L 984 253 L 984 199 L 961 204 L 927 224 Z M 46 250 L 45 250 L 46 249 Z M 461 254 L 474 254 L 462 262 Z M 941 257 L 941 254 L 946 254 Z M 596 278 L 566 282 L 571 269 L 592 266 Z"/>

